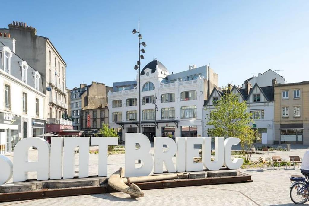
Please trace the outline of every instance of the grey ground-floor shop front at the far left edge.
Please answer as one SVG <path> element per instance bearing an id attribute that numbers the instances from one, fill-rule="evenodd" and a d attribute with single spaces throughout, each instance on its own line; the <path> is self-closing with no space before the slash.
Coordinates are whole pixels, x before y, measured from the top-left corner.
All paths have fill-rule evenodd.
<path id="1" fill-rule="evenodd" d="M 0 154 L 14 151 L 21 139 L 21 116 L 0 112 Z"/>

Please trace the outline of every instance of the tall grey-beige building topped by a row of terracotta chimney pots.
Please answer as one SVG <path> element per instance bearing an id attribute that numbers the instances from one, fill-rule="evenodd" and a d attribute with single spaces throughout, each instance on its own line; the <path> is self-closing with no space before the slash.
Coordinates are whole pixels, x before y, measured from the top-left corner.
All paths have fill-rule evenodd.
<path id="1" fill-rule="evenodd" d="M 10 33 L 16 40 L 16 54 L 42 75 L 43 93 L 48 98 L 44 103 L 45 118 L 53 119 L 52 122 L 61 119 L 68 109 L 66 62 L 49 38 L 36 35 L 36 28 L 23 22 L 13 22 L 8 27 L 0 32 Z"/>

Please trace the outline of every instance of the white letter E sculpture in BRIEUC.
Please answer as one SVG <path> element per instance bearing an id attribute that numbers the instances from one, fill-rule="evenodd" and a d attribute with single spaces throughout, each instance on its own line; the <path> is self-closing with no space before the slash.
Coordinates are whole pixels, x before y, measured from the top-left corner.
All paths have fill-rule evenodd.
<path id="1" fill-rule="evenodd" d="M 202 171 L 203 164 L 193 162 L 193 157 L 199 157 L 198 149 L 194 149 L 194 145 L 203 145 L 204 138 L 202 137 L 186 137 L 186 171 Z"/>

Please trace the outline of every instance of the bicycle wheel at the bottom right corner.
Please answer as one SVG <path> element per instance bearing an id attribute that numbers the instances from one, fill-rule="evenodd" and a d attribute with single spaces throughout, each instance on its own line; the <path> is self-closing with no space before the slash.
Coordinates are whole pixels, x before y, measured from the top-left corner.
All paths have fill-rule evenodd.
<path id="1" fill-rule="evenodd" d="M 309 197 L 309 190 L 306 184 L 298 182 L 290 190 L 290 198 L 295 204 L 304 204 Z"/>

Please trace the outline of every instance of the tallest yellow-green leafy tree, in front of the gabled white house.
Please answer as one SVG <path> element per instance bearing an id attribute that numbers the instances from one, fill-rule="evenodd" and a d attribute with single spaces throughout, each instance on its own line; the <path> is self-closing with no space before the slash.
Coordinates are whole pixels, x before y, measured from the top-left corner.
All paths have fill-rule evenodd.
<path id="1" fill-rule="evenodd" d="M 239 96 L 233 94 L 229 88 L 223 90 L 220 100 L 213 103 L 215 108 L 209 110 L 206 117 L 207 125 L 214 126 L 213 137 L 238 137 L 243 151 L 244 162 L 251 158 L 248 151 L 251 150 L 256 132 L 248 126 L 253 120 L 247 110 L 246 101 L 239 102 Z"/>

